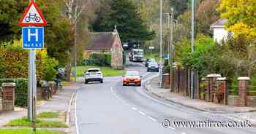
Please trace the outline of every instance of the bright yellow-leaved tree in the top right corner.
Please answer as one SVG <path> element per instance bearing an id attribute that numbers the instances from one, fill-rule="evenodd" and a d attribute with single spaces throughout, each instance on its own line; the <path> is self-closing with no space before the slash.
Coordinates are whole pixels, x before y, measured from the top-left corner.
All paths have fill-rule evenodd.
<path id="1" fill-rule="evenodd" d="M 256 1 L 222 0 L 219 6 L 222 17 L 227 18 L 227 28 L 236 36 L 246 36 L 251 42 L 256 39 Z"/>

